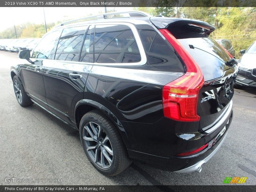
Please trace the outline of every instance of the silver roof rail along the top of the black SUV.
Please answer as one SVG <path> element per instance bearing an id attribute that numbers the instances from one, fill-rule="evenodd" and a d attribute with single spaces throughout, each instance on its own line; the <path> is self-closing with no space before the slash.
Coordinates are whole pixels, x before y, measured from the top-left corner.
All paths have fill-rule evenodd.
<path id="1" fill-rule="evenodd" d="M 126 14 L 127 16 L 108 17 L 110 15 L 114 16 L 114 15 L 120 15 L 120 14 Z M 100 15 L 92 15 L 92 16 L 83 17 L 83 18 L 79 18 L 79 19 L 69 20 L 69 21 L 61 23 L 60 25 L 57 25 L 56 27 L 67 25 L 69 23 L 75 23 L 75 22 L 78 22 L 78 21 L 87 21 L 87 20 L 96 20 L 96 19 L 111 19 L 111 18 L 150 17 L 150 16 L 151 15 L 149 15 L 148 13 L 145 13 L 145 12 L 142 12 L 142 11 L 111 12 L 111 13 L 104 13 L 104 14 L 100 14 Z"/>

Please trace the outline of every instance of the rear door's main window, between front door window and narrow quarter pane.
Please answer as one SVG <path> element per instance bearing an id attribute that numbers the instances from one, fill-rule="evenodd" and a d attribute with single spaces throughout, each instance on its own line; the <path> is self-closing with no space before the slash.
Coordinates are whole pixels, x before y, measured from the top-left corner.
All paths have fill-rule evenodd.
<path id="1" fill-rule="evenodd" d="M 56 51 L 56 60 L 77 61 L 87 26 L 63 29 Z"/>

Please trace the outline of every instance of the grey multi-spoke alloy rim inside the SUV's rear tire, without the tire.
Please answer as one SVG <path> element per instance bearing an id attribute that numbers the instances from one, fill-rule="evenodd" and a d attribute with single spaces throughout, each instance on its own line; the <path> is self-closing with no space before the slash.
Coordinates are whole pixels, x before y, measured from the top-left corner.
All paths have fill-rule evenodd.
<path id="1" fill-rule="evenodd" d="M 98 167 L 108 169 L 113 164 L 113 148 L 100 125 L 88 122 L 83 128 L 83 140 L 91 160 Z"/>

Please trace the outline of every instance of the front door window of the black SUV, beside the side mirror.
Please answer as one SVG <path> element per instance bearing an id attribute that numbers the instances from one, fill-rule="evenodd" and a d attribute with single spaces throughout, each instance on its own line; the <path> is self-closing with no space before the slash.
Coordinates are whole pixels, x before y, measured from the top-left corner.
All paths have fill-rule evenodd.
<path id="1" fill-rule="evenodd" d="M 54 31 L 40 41 L 33 51 L 32 58 L 38 59 L 54 59 L 55 43 L 60 36 L 60 31 Z"/>

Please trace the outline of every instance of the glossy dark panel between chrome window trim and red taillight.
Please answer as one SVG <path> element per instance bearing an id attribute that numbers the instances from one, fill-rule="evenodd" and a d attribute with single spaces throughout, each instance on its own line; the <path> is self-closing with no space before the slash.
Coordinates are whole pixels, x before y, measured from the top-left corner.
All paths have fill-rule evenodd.
<path id="1" fill-rule="evenodd" d="M 169 71 L 184 71 L 184 66 L 169 42 L 154 30 L 141 30 L 140 38 L 150 65 L 162 66 Z"/>

